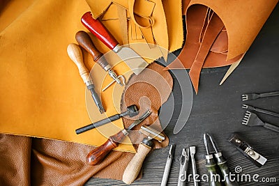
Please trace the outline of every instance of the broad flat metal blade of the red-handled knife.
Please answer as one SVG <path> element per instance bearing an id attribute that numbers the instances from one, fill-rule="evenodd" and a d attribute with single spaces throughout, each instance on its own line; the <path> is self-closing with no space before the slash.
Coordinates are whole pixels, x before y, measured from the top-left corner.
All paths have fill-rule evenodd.
<path id="1" fill-rule="evenodd" d="M 128 47 L 121 47 L 117 54 L 133 70 L 135 75 L 139 75 L 149 65 L 139 54 Z"/>

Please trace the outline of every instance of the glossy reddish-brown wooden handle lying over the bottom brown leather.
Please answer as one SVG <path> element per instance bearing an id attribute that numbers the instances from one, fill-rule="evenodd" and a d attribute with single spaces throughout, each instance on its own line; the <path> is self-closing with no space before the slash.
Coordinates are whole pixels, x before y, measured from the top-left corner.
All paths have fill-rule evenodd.
<path id="1" fill-rule="evenodd" d="M 107 141 L 105 141 L 105 144 L 95 148 L 87 155 L 87 162 L 90 165 L 100 164 L 100 162 L 103 161 L 108 153 L 118 146 L 119 142 L 122 141 L 124 137 L 125 134 L 122 132 L 122 130 L 111 136 L 109 139 L 107 139 Z"/>

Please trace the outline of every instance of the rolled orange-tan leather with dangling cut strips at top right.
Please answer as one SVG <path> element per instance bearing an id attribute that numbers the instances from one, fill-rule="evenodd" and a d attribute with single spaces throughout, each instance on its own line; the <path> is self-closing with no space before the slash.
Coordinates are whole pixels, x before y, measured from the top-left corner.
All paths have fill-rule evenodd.
<path id="1" fill-rule="evenodd" d="M 278 1 L 269 1 L 268 5 L 265 3 L 266 1 L 184 0 L 182 11 L 183 15 L 186 15 L 186 43 L 178 58 L 167 68 L 179 69 L 181 68 L 180 62 L 184 68 L 189 68 L 190 77 L 197 93 L 201 68 L 240 63 Z M 206 19 L 208 9 L 219 17 L 225 27 L 217 36 L 214 36 L 213 44 L 213 38 L 211 41 L 208 38 L 203 41 L 212 44 L 209 50 L 200 50 L 202 41 L 199 40 L 199 36 L 202 36 L 205 28 L 202 20 Z M 217 28 L 218 24 L 214 26 Z M 209 33 L 211 32 L 209 31 Z M 198 67 L 193 66 L 193 63 L 197 64 L 195 60 L 198 56 L 205 56 L 205 58 L 199 62 Z M 229 69 L 223 81 L 236 66 Z"/>

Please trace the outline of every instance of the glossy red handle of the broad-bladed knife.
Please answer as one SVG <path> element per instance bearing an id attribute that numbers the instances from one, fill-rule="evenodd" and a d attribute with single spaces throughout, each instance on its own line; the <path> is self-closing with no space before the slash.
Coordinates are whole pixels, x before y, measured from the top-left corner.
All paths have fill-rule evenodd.
<path id="1" fill-rule="evenodd" d="M 91 12 L 82 15 L 82 24 L 110 49 L 114 49 L 118 45 L 114 36 L 107 31 L 105 26 L 99 20 L 93 19 Z"/>

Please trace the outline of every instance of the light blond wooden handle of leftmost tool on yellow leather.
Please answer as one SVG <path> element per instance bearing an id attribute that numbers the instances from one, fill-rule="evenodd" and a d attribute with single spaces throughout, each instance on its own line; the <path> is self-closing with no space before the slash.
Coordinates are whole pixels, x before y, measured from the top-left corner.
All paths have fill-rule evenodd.
<path id="1" fill-rule="evenodd" d="M 75 65 L 77 65 L 77 68 L 80 72 L 80 77 L 82 77 L 83 82 L 88 82 L 89 71 L 83 63 L 82 50 L 80 47 L 75 43 L 70 43 L 70 45 L 67 47 L 67 52 L 70 59 L 75 63 Z"/>

